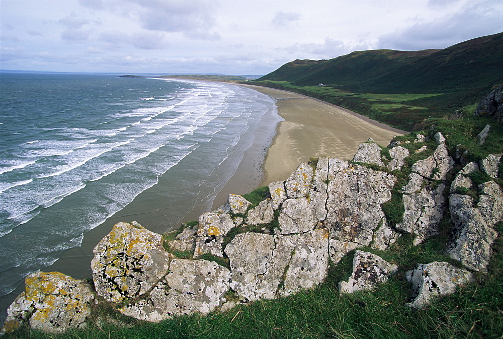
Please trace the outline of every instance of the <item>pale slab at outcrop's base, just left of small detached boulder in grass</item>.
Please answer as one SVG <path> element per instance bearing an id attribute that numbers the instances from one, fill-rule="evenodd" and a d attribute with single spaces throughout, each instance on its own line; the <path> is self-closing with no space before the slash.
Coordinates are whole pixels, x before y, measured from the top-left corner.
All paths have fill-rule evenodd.
<path id="1" fill-rule="evenodd" d="M 328 271 L 328 231 L 326 229 L 296 234 L 291 236 L 289 241 L 293 244 L 293 251 L 285 272 L 283 288 L 280 289 L 281 296 L 289 296 L 302 289 L 321 284 Z M 283 251 L 281 248 L 277 248 L 278 250 Z"/>

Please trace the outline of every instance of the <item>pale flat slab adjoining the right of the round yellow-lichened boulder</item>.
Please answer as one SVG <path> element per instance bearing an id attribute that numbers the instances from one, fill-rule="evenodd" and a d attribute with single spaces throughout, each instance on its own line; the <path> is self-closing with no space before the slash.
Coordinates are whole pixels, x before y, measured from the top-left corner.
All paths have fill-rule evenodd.
<path id="1" fill-rule="evenodd" d="M 170 273 L 148 298 L 119 311 L 136 319 L 158 322 L 173 316 L 207 314 L 225 302 L 230 271 L 212 261 L 173 259 Z"/>

